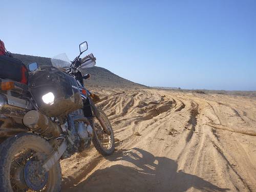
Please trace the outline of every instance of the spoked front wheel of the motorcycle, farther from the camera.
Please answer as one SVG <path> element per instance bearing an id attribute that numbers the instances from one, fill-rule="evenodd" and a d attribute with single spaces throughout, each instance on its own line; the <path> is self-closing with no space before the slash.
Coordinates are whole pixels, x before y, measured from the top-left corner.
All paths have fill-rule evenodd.
<path id="1" fill-rule="evenodd" d="M 108 131 L 110 132 L 110 135 L 106 134 L 103 130 L 101 123 L 97 117 L 94 118 L 94 137 L 92 139 L 93 144 L 96 148 L 96 150 L 103 156 L 109 156 L 114 153 L 115 150 L 115 138 L 114 138 L 114 132 L 112 129 L 112 126 L 110 124 L 110 121 L 108 117 L 104 114 L 103 111 L 98 109 L 99 116 L 102 119 L 102 123 L 105 124 L 105 127 L 107 127 Z"/>

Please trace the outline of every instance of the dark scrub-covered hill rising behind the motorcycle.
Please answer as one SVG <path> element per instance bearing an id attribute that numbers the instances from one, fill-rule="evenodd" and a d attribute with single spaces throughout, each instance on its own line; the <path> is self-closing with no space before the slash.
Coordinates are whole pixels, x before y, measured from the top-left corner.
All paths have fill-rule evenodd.
<path id="1" fill-rule="evenodd" d="M 14 58 L 22 60 L 25 65 L 31 62 L 37 62 L 40 66 L 51 66 L 51 58 L 48 57 L 38 57 L 31 55 L 20 55 L 12 54 Z M 130 80 L 119 77 L 118 75 L 112 73 L 101 67 L 87 68 L 82 71 L 84 74 L 90 73 L 91 78 L 85 80 L 86 86 L 98 86 L 98 87 L 122 87 L 122 88 L 147 88 L 143 84 L 135 83 Z"/>

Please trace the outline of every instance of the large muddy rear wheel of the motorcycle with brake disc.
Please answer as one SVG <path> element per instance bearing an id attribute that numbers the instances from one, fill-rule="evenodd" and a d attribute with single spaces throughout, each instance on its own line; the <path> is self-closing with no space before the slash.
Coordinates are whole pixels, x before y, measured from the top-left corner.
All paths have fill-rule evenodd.
<path id="1" fill-rule="evenodd" d="M 51 152 L 49 142 L 34 134 L 17 134 L 1 143 L 0 191 L 60 191 L 59 162 L 47 173 L 42 169 L 42 158 Z"/>

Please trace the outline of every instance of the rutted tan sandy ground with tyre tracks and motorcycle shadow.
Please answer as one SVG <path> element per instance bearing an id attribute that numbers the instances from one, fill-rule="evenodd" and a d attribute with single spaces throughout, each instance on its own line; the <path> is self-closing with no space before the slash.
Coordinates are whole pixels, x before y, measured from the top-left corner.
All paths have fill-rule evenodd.
<path id="1" fill-rule="evenodd" d="M 62 191 L 256 191 L 256 98 L 94 91 L 116 151 L 62 160 Z"/>

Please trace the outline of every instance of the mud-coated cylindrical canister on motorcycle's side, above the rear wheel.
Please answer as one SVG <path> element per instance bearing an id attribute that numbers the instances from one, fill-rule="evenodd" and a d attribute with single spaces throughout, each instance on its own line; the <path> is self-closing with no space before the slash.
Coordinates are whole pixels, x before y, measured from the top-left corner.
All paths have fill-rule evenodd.
<path id="1" fill-rule="evenodd" d="M 48 138 L 58 137 L 61 134 L 61 128 L 57 123 L 35 110 L 25 114 L 23 123 L 32 131 Z"/>

